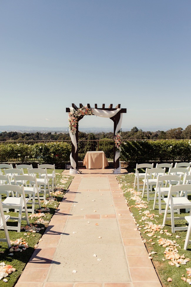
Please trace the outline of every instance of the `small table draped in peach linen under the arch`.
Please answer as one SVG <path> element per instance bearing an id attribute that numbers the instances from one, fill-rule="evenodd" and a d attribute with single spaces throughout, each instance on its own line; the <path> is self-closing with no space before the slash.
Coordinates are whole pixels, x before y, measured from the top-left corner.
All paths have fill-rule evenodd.
<path id="1" fill-rule="evenodd" d="M 93 151 L 86 153 L 83 165 L 86 165 L 87 169 L 104 169 L 109 164 L 103 151 Z"/>

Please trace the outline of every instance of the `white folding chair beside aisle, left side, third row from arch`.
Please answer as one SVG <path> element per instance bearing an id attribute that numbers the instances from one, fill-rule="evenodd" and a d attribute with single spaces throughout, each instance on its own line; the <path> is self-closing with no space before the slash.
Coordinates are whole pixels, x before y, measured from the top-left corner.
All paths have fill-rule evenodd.
<path id="1" fill-rule="evenodd" d="M 34 176 L 14 175 L 14 181 L 15 181 L 15 185 L 21 185 L 22 181 L 26 183 L 29 182 L 28 185 L 26 184 L 26 186 L 24 186 L 25 194 L 29 195 L 29 201 L 27 202 L 27 204 L 32 204 L 32 208 L 27 208 L 28 212 L 34 213 L 35 204 L 38 204 L 39 208 L 41 208 L 41 201 L 39 197 L 40 188 L 38 188 L 38 184 L 36 181 L 36 175 Z M 36 196 L 37 196 L 38 202 L 35 202 Z"/>

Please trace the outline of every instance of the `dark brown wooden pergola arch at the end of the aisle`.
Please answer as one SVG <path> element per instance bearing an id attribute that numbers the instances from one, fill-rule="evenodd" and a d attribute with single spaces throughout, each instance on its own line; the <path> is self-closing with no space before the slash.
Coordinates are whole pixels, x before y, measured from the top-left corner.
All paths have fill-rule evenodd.
<path id="1" fill-rule="evenodd" d="M 105 104 L 102 105 L 102 108 L 98 108 L 98 105 L 95 104 L 95 109 L 98 109 L 98 110 L 105 110 L 105 111 L 115 111 L 116 109 L 120 108 L 120 104 L 118 104 L 115 108 L 113 108 L 113 104 L 110 104 L 108 108 L 105 108 Z M 72 104 L 72 107 L 75 109 L 75 110 L 78 110 L 78 107 L 75 105 L 75 104 Z M 83 104 L 80 104 L 80 108 L 83 107 Z M 87 104 L 87 107 L 88 108 L 91 108 L 90 104 Z M 66 108 L 66 112 L 70 112 L 70 108 Z M 126 113 L 127 112 L 127 109 L 121 109 L 115 116 L 113 117 L 110 117 L 110 119 L 114 122 L 114 136 L 115 136 L 115 130 L 116 130 L 116 127 L 117 127 L 117 124 L 120 120 L 120 113 Z M 78 122 L 83 118 L 84 116 L 81 115 L 80 117 L 78 117 Z M 75 153 L 75 147 L 72 143 L 72 157 L 73 159 L 75 160 L 76 162 L 76 169 L 78 169 L 78 123 L 77 123 L 77 126 L 76 126 L 76 142 L 77 142 L 77 150 L 76 150 L 76 153 Z M 118 160 L 115 162 L 115 152 L 116 152 L 116 147 L 115 147 L 115 144 L 113 142 L 113 168 L 118 168 L 119 167 L 119 158 Z"/>

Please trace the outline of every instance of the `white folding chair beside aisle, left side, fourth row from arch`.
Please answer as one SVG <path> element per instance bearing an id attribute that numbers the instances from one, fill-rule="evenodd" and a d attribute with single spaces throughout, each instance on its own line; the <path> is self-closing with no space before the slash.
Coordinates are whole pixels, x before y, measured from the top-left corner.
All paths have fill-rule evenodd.
<path id="1" fill-rule="evenodd" d="M 9 210 L 19 210 L 19 216 L 11 216 L 10 219 L 18 219 L 18 225 L 17 226 L 8 226 L 7 229 L 9 230 L 16 230 L 17 232 L 21 231 L 21 220 L 26 220 L 27 225 L 29 225 L 29 216 L 27 211 L 26 203 L 28 202 L 28 198 L 25 198 L 25 192 L 24 192 L 24 186 L 18 186 L 18 185 L 9 185 L 9 184 L 2 184 L 0 185 L 0 193 L 3 193 L 3 191 L 6 193 L 7 191 L 13 191 L 16 193 L 16 197 L 7 197 L 2 202 L 3 209 Z M 26 217 L 22 217 L 22 210 L 25 210 Z"/>

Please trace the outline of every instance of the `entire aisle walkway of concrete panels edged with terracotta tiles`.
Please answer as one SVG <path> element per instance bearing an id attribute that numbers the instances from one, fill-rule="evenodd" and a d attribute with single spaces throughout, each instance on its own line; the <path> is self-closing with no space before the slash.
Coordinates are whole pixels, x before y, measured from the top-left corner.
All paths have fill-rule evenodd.
<path id="1" fill-rule="evenodd" d="M 81 171 L 16 287 L 161 287 L 111 169 Z"/>

